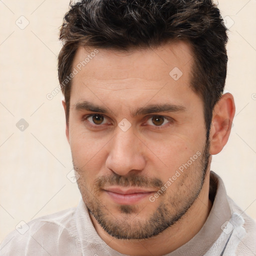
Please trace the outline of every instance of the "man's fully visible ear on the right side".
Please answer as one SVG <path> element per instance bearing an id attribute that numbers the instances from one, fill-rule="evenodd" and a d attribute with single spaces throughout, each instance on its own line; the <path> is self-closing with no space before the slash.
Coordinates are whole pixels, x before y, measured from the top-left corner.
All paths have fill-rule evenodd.
<path id="1" fill-rule="evenodd" d="M 233 96 L 227 92 L 220 97 L 212 112 L 209 134 L 210 154 L 219 153 L 226 144 L 230 134 L 234 112 Z"/>

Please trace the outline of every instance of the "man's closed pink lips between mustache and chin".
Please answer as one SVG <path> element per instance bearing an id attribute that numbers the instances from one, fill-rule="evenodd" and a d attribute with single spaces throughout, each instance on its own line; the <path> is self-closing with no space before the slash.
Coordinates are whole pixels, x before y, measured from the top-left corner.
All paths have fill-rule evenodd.
<path id="1" fill-rule="evenodd" d="M 141 188 L 129 188 L 123 189 L 119 187 L 109 187 L 103 189 L 103 191 L 118 204 L 133 204 L 142 199 L 148 198 L 150 194 L 154 193 L 152 189 L 146 190 Z"/>

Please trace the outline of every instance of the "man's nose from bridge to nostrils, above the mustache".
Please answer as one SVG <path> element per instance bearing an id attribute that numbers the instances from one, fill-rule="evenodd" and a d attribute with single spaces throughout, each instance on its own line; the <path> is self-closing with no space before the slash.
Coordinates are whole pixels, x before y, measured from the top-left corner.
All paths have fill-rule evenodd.
<path id="1" fill-rule="evenodd" d="M 126 131 L 117 127 L 114 137 L 108 143 L 108 150 L 106 168 L 116 174 L 126 175 L 130 171 L 142 170 L 145 166 L 143 143 L 133 133 L 132 127 Z"/>

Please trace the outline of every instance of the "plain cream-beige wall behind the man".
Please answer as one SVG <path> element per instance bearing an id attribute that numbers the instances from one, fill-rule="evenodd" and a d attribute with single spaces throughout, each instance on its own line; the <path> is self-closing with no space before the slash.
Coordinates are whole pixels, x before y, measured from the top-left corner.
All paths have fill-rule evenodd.
<path id="1" fill-rule="evenodd" d="M 72 164 L 62 95 L 46 98 L 58 86 L 58 27 L 68 2 L 0 0 L 0 240 L 21 220 L 74 207 L 79 200 L 76 183 L 66 177 Z M 219 0 L 219 8 L 229 16 L 228 25 L 234 22 L 226 89 L 234 95 L 236 115 L 211 169 L 256 218 L 256 0 Z M 21 118 L 29 124 L 23 131 L 16 127 Z"/>

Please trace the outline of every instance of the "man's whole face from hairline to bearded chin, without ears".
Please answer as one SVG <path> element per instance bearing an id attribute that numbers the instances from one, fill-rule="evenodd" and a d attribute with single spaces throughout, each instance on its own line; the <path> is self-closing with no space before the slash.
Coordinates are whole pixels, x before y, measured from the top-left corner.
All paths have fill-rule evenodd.
<path id="1" fill-rule="evenodd" d="M 158 234 L 201 190 L 208 143 L 203 103 L 189 85 L 192 59 L 185 42 L 75 55 L 67 138 L 77 183 L 116 238 Z"/>

